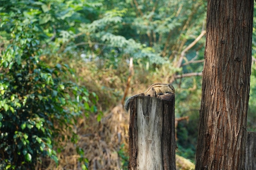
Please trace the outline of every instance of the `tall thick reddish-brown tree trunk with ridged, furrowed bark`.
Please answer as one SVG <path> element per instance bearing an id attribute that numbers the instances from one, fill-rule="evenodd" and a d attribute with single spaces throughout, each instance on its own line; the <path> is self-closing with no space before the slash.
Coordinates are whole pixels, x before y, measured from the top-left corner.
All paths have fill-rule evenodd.
<path id="1" fill-rule="evenodd" d="M 243 170 L 253 0 L 208 0 L 195 170 Z"/>

